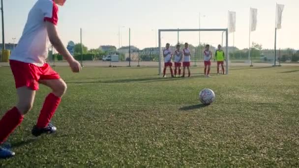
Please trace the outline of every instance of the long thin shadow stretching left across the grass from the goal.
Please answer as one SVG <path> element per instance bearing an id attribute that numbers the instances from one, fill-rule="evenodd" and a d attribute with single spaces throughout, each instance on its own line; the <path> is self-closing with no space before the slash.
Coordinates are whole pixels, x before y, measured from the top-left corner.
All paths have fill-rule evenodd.
<path id="1" fill-rule="evenodd" d="M 117 83 L 153 83 L 165 81 L 179 81 L 184 79 L 203 78 L 204 76 L 194 76 L 190 78 L 140 78 L 140 79 L 122 79 L 122 80 L 108 80 L 108 81 L 78 81 L 66 82 L 67 84 L 117 84 Z"/>

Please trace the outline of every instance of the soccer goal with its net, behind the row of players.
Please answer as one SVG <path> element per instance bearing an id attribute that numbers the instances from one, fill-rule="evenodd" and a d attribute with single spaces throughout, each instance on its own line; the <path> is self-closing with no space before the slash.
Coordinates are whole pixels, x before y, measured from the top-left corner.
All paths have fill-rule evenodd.
<path id="1" fill-rule="evenodd" d="M 181 50 L 184 48 L 184 43 L 189 44 L 191 52 L 192 66 L 202 66 L 205 50 L 205 45 L 210 45 L 210 51 L 213 53 L 212 61 L 214 61 L 214 54 L 217 46 L 220 44 L 225 53 L 226 74 L 229 74 L 229 47 L 228 47 L 228 29 L 159 29 L 159 75 L 162 74 L 164 66 L 163 50 L 167 43 L 170 44 L 172 53 L 176 50 L 176 45 L 179 43 Z M 216 63 L 212 63 L 216 64 Z M 220 68 L 221 69 L 221 68 Z"/>

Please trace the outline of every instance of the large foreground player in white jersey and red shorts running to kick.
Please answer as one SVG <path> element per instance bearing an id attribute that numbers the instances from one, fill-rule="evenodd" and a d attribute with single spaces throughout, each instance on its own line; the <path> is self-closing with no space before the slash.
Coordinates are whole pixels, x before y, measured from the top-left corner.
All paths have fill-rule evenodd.
<path id="1" fill-rule="evenodd" d="M 18 103 L 0 119 L 0 144 L 8 138 L 23 121 L 24 115 L 32 108 L 38 84 L 52 89 L 40 111 L 37 124 L 31 131 L 35 137 L 43 133 L 54 133 L 56 127 L 50 124 L 66 84 L 49 64 L 46 63 L 47 39 L 67 60 L 73 72 L 79 72 L 81 66 L 63 46 L 56 30 L 58 6 L 65 0 L 37 0 L 29 12 L 22 37 L 10 56 L 10 67 L 17 88 Z M 0 158 L 9 158 L 15 153 L 0 147 Z"/>

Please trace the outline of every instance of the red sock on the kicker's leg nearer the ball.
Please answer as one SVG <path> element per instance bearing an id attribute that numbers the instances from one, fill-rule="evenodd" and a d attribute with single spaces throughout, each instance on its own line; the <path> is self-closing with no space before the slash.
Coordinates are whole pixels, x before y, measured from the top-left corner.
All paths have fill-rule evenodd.
<path id="1" fill-rule="evenodd" d="M 53 93 L 50 93 L 45 100 L 42 110 L 40 111 L 36 127 L 37 128 L 45 128 L 51 118 L 53 117 L 56 109 L 60 104 L 61 99 L 55 96 Z"/>

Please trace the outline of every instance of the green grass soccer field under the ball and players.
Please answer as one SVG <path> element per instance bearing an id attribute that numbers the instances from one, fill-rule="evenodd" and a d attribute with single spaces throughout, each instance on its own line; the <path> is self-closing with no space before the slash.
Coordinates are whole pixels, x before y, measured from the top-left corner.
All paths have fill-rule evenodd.
<path id="1" fill-rule="evenodd" d="M 31 136 L 49 89 L 10 136 L 16 156 L 1 168 L 299 167 L 299 68 L 232 67 L 230 75 L 160 78 L 156 67 L 56 67 L 68 85 L 54 135 Z M 0 67 L 0 114 L 15 105 Z M 198 93 L 216 101 L 203 106 Z"/>

